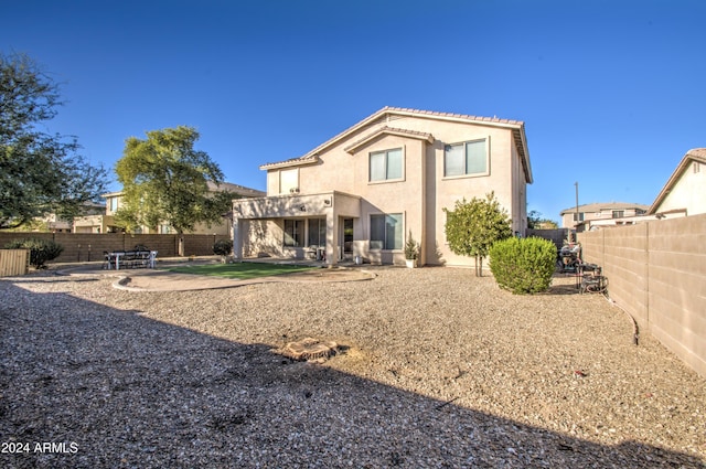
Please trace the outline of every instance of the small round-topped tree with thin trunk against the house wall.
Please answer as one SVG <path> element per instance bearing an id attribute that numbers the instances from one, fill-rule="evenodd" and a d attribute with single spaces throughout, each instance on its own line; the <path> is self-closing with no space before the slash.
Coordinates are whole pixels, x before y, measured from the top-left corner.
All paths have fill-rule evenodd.
<path id="1" fill-rule="evenodd" d="M 473 198 L 456 201 L 453 211 L 446 212 L 446 238 L 449 248 L 459 256 L 475 258 L 475 276 L 483 275 L 483 257 L 496 241 L 512 236 L 507 212 L 503 210 L 491 192 L 485 199 Z"/>

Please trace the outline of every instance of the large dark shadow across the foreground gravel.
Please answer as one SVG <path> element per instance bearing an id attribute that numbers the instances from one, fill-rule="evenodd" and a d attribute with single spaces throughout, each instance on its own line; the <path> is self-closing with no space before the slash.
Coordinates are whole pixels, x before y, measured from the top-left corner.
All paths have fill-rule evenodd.
<path id="1" fill-rule="evenodd" d="M 3 468 L 703 467 L 689 455 L 597 445 L 65 294 L 0 281 L 0 297 Z M 38 451 L 35 443 L 55 446 Z"/>

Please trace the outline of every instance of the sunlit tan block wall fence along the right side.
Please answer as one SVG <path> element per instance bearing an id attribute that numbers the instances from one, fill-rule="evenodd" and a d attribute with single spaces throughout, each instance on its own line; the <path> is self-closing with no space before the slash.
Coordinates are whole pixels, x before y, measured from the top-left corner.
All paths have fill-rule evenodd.
<path id="1" fill-rule="evenodd" d="M 584 260 L 608 294 L 686 364 L 706 376 L 706 214 L 579 233 Z"/>

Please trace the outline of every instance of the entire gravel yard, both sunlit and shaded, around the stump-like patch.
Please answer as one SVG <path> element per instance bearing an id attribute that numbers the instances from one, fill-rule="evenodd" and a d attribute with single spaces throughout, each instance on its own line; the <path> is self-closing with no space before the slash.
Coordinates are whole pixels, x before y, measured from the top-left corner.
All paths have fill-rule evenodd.
<path id="1" fill-rule="evenodd" d="M 181 292 L 0 280 L 0 467 L 706 467 L 706 380 L 645 331 L 635 347 L 602 296 L 367 269 Z M 342 350 L 277 353 L 307 337 Z"/>

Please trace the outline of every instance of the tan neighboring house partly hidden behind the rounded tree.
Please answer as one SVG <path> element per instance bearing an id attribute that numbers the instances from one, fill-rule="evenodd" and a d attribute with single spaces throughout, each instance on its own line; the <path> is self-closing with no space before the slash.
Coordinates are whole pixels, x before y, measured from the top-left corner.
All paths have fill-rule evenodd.
<path id="1" fill-rule="evenodd" d="M 215 191 L 231 191 L 243 198 L 253 198 L 265 195 L 265 192 L 256 189 L 245 188 L 238 184 L 232 184 L 229 182 L 223 182 L 218 185 L 208 182 L 208 190 Z M 82 216 L 74 218 L 74 233 L 117 233 L 122 231 L 121 227 L 115 223 L 115 213 L 120 209 L 122 203 L 122 192 L 110 192 L 101 195 L 106 200 L 105 215 Z M 227 214 L 229 215 L 229 214 Z M 194 234 L 231 234 L 232 223 L 229 220 L 224 221 L 220 225 L 207 226 L 200 224 L 194 230 Z M 175 233 L 174 230 L 168 224 L 160 224 L 156 230 L 150 230 L 147 226 L 140 226 L 139 233 L 142 234 L 170 234 Z"/>

